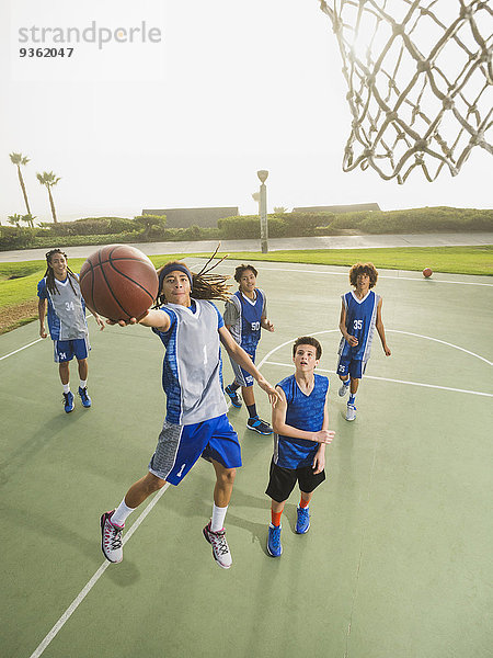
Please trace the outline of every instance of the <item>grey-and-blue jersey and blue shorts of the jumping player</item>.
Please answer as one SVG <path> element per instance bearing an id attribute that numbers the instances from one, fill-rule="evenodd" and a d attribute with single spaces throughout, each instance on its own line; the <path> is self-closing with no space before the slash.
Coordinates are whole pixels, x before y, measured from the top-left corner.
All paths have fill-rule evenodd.
<path id="1" fill-rule="evenodd" d="M 192 299 L 161 307 L 171 321 L 168 331 L 153 328 L 165 347 L 162 386 L 167 416 L 149 463 L 157 477 L 177 485 L 198 457 L 226 468 L 241 466 L 238 435 L 226 416 L 218 330 L 223 327 L 216 306 Z"/>

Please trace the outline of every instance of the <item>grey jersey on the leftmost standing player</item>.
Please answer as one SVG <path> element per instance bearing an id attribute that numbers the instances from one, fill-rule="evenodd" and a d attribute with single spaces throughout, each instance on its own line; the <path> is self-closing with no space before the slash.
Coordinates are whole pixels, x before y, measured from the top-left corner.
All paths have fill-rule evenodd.
<path id="1" fill-rule="evenodd" d="M 50 293 L 46 276 L 37 284 L 39 299 L 48 300 L 48 329 L 51 340 L 78 340 L 89 334 L 85 321 L 85 304 L 77 276 L 65 281 L 55 279 L 56 293 Z"/>

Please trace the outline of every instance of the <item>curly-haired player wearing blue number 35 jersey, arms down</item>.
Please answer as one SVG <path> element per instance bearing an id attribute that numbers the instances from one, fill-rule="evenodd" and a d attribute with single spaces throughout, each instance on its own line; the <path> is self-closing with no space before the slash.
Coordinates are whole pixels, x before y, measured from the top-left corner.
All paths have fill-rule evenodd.
<path id="1" fill-rule="evenodd" d="M 372 263 L 356 263 L 349 270 L 349 282 L 355 290 L 342 295 L 339 321 L 342 339 L 336 372 L 342 382 L 339 395 L 344 397 L 351 388 L 346 410 L 346 420 L 349 421 L 356 418 L 356 392 L 370 355 L 375 329 L 386 356 L 390 356 L 381 320 L 381 297 L 370 291 L 377 279 L 378 272 Z"/>

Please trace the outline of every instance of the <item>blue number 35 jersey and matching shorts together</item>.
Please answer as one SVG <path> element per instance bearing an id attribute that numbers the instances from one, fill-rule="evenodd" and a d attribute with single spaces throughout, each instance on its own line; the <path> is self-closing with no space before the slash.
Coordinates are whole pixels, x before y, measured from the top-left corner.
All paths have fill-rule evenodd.
<path id="1" fill-rule="evenodd" d="M 358 344 L 352 347 L 344 337 L 341 338 L 337 374 L 360 378 L 370 356 L 380 295 L 368 291 L 363 299 L 358 299 L 352 291 L 342 295 L 342 300 L 346 310 L 346 331 L 357 338 Z"/>

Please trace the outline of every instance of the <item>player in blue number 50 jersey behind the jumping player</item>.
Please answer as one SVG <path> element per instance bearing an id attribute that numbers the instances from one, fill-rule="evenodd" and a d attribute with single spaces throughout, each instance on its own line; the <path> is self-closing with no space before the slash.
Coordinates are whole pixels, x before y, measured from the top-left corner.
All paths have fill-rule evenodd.
<path id="1" fill-rule="evenodd" d="M 231 331 L 231 336 L 243 348 L 253 363 L 255 363 L 255 351 L 261 339 L 261 330 L 274 331 L 274 325 L 267 319 L 267 297 L 264 291 L 256 287 L 257 273 L 253 265 L 238 265 L 234 270 L 234 281 L 239 283 L 239 290 L 226 303 L 223 315 L 226 328 Z M 241 386 L 243 400 L 249 412 L 246 427 L 249 430 L 259 432 L 259 434 L 272 434 L 268 422 L 259 418 L 256 412 L 252 375 L 232 359 L 231 367 L 234 379 L 225 388 L 226 394 L 231 399 L 231 405 L 237 408 L 241 407 L 241 398 L 237 393 Z"/>

